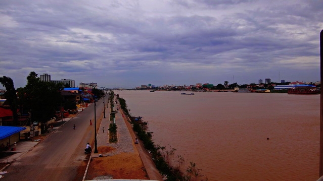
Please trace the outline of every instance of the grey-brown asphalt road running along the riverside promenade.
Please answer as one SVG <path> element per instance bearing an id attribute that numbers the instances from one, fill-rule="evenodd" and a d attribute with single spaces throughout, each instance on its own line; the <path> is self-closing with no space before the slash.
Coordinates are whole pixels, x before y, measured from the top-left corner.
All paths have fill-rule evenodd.
<path id="1" fill-rule="evenodd" d="M 96 110 L 98 120 L 103 112 L 102 99 L 97 102 Z M 77 168 L 82 162 L 87 163 L 89 155 L 84 154 L 84 148 L 87 142 L 94 143 L 94 132 L 94 104 L 91 104 L 11 164 L 2 181 L 82 180 L 83 175 L 77 175 Z M 94 151 L 94 145 L 91 146 Z"/>

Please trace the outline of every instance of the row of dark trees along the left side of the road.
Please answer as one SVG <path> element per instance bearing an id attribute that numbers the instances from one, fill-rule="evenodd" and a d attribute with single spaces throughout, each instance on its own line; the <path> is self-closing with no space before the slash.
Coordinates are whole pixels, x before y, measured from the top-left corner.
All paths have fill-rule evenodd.
<path id="1" fill-rule="evenodd" d="M 54 117 L 56 111 L 64 109 L 75 109 L 76 102 L 64 101 L 61 90 L 65 87 L 63 83 L 40 81 L 35 72 L 27 77 L 27 85 L 23 88 L 14 87 L 10 77 L 0 77 L 0 83 L 6 88 L 4 97 L 13 112 L 13 126 L 18 124 L 18 109 L 20 114 L 31 115 L 32 122 L 47 122 Z M 93 93 L 100 99 L 104 93 L 102 90 L 93 89 Z"/>

